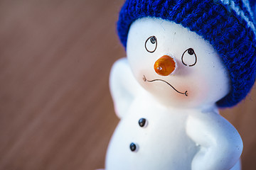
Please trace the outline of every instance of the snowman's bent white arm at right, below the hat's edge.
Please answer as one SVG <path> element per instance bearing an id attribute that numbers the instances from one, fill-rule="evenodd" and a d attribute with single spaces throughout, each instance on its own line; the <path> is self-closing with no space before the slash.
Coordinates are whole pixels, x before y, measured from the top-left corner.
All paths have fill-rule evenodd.
<path id="1" fill-rule="evenodd" d="M 228 170 L 242 154 L 238 131 L 218 113 L 190 115 L 186 132 L 199 147 L 191 163 L 192 170 Z"/>

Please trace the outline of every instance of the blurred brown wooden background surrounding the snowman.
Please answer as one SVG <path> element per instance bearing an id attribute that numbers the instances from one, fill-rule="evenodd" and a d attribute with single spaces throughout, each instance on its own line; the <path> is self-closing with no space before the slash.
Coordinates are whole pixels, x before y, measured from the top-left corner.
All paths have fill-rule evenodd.
<path id="1" fill-rule="evenodd" d="M 0 1 L 0 169 L 103 168 L 118 123 L 108 77 L 125 56 L 120 0 Z M 221 111 L 256 169 L 256 89 Z"/>

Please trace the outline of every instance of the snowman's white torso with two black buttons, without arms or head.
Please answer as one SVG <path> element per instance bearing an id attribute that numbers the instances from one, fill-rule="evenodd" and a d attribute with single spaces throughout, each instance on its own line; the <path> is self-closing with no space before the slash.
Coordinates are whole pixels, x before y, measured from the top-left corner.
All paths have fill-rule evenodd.
<path id="1" fill-rule="evenodd" d="M 142 91 L 114 132 L 107 169 L 190 169 L 198 147 L 186 135 L 188 115 L 188 111 L 161 106 Z M 139 126 L 141 118 L 146 119 L 146 127 Z M 131 143 L 137 145 L 134 152 Z"/>

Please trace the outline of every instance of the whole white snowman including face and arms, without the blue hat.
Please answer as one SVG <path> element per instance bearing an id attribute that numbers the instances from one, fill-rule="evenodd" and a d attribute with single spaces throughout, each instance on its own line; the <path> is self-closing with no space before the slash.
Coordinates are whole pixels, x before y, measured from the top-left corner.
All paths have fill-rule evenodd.
<path id="1" fill-rule="evenodd" d="M 161 18 L 134 21 L 110 91 L 120 122 L 106 170 L 240 169 L 242 140 L 215 106 L 229 92 L 228 72 L 196 33 Z"/>

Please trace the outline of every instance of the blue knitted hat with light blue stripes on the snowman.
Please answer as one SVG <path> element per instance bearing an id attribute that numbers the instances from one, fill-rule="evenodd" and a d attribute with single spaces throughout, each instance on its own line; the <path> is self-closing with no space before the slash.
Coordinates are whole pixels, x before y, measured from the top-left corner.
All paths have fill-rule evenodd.
<path id="1" fill-rule="evenodd" d="M 132 22 L 147 16 L 181 24 L 215 48 L 231 88 L 218 107 L 235 106 L 249 93 L 256 77 L 255 0 L 127 0 L 117 22 L 124 47 Z"/>

